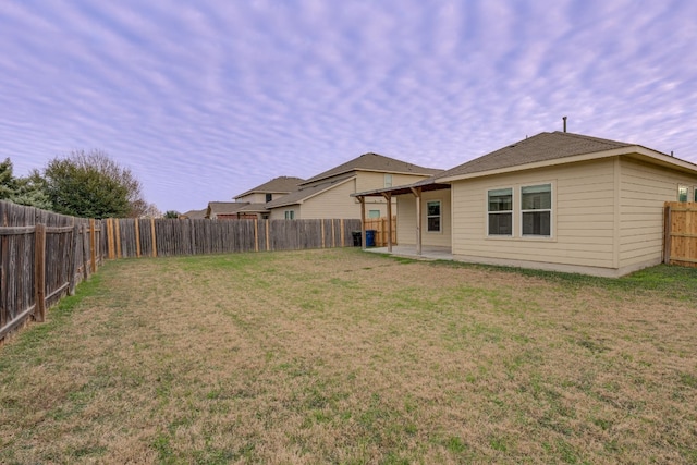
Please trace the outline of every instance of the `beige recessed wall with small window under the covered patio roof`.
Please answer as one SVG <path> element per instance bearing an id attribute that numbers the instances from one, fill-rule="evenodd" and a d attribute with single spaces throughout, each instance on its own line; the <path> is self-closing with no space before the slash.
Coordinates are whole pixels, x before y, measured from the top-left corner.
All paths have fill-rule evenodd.
<path id="1" fill-rule="evenodd" d="M 400 215 L 396 217 L 396 243 L 416 245 L 416 197 L 413 194 L 396 196 Z M 426 205 L 440 200 L 441 231 L 429 232 Z M 431 191 L 421 194 L 421 245 L 450 247 L 452 244 L 451 191 Z"/>

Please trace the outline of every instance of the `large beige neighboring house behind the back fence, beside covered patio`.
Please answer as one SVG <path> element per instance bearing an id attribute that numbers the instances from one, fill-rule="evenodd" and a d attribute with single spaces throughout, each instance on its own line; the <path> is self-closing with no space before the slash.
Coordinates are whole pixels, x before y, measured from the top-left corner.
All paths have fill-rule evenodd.
<path id="1" fill-rule="evenodd" d="M 360 203 L 351 194 L 414 183 L 441 171 L 378 154 L 364 154 L 299 183 L 297 191 L 266 206 L 271 219 L 360 218 Z M 366 203 L 367 216 L 387 216 L 387 200 L 383 197 Z"/>

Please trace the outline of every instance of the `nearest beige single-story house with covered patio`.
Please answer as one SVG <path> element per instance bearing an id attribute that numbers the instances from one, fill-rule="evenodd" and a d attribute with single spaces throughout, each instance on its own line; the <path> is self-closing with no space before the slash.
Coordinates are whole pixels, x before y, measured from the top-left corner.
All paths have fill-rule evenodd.
<path id="1" fill-rule="evenodd" d="M 663 205 L 697 200 L 697 166 L 635 144 L 541 133 L 429 180 L 356 196 L 386 193 L 398 198 L 401 246 L 619 277 L 661 262 Z"/>

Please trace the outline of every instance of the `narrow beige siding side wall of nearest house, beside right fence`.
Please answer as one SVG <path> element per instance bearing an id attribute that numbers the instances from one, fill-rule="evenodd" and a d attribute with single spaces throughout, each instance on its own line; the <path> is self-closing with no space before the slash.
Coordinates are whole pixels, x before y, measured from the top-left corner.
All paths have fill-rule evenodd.
<path id="1" fill-rule="evenodd" d="M 697 175 L 623 157 L 620 159 L 620 267 L 656 265 L 663 252 L 663 204 L 677 200 L 677 186 L 694 196 Z"/>

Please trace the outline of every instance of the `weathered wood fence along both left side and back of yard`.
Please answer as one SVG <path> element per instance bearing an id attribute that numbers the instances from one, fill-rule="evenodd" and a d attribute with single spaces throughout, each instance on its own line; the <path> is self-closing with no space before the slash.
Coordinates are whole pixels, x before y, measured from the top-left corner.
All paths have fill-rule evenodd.
<path id="1" fill-rule="evenodd" d="M 68 217 L 0 201 L 0 342 L 108 258 L 353 245 L 360 220 L 166 220 Z"/>

